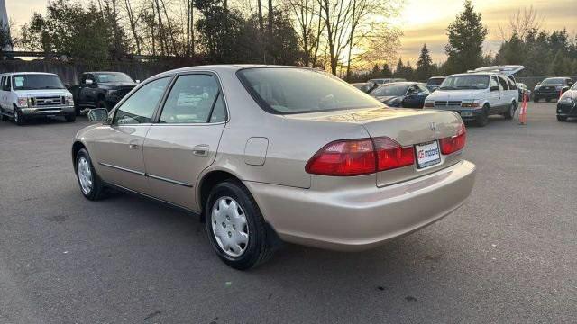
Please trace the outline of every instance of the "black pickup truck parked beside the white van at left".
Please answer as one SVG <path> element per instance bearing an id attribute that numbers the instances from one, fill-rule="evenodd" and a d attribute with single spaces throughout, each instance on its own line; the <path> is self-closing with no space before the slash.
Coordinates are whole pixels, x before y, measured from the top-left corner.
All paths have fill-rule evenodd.
<path id="1" fill-rule="evenodd" d="M 79 114 L 88 108 L 111 110 L 138 83 L 120 72 L 85 72 L 79 85 L 69 87 Z"/>

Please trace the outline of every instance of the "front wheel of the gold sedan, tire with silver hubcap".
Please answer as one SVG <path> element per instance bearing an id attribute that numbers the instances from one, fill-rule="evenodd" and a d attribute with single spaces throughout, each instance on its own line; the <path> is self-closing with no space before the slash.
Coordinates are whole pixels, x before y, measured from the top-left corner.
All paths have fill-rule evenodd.
<path id="1" fill-rule="evenodd" d="M 105 185 L 96 175 L 96 170 L 92 165 L 92 160 L 86 148 L 81 148 L 74 160 L 74 169 L 80 193 L 87 200 L 97 201 L 104 197 Z M 86 181 L 86 182 L 85 182 Z"/>

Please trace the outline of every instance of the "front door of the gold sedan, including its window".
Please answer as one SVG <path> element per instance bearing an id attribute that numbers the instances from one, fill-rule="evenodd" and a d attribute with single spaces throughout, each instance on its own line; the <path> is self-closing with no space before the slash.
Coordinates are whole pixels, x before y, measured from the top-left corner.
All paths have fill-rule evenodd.
<path id="1" fill-rule="evenodd" d="M 142 148 L 170 78 L 142 85 L 114 111 L 111 125 L 95 130 L 97 172 L 105 182 L 150 193 Z"/>

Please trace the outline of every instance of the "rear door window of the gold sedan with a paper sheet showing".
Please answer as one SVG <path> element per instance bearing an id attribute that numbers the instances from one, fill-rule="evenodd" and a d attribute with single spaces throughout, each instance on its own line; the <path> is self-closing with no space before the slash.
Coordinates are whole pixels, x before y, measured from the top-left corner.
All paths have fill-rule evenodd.
<path id="1" fill-rule="evenodd" d="M 179 76 L 160 114 L 161 123 L 205 123 L 220 87 L 215 76 Z"/>

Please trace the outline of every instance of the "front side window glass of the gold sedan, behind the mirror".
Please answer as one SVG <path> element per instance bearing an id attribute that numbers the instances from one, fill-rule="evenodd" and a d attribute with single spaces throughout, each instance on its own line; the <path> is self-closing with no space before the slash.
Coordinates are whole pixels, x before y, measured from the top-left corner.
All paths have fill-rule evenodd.
<path id="1" fill-rule="evenodd" d="M 162 77 L 142 85 L 130 98 L 118 107 L 114 114 L 114 124 L 133 125 L 140 123 L 149 123 L 152 120 L 154 109 L 160 102 L 162 94 L 170 77 Z"/>

